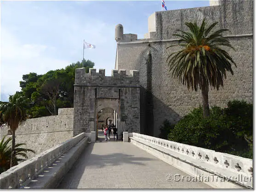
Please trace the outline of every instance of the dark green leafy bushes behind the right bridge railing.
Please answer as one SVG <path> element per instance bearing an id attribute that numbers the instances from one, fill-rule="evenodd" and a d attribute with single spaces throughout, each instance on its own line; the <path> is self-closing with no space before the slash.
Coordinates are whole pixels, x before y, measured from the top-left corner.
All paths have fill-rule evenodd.
<path id="1" fill-rule="evenodd" d="M 224 109 L 212 107 L 207 118 L 196 108 L 170 129 L 168 139 L 252 159 L 252 111 L 252 104 L 236 100 Z"/>

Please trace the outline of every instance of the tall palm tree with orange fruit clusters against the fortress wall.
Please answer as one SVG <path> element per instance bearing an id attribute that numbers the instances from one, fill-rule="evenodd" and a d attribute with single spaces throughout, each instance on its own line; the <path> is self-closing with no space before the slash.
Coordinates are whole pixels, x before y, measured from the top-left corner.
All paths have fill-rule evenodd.
<path id="1" fill-rule="evenodd" d="M 177 77 L 187 88 L 197 91 L 198 86 L 202 92 L 202 104 L 204 117 L 210 115 L 208 103 L 208 92 L 210 87 L 219 89 L 223 87 L 223 77 L 226 78 L 226 71 L 233 75 L 231 64 L 235 62 L 223 47 L 234 48 L 222 33 L 228 29 L 220 29 L 212 33 L 212 29 L 218 22 L 209 27 L 203 20 L 199 27 L 196 22 L 186 22 L 188 32 L 177 30 L 182 34 L 173 34 L 179 37 L 179 42 L 173 46 L 182 46 L 182 49 L 171 53 L 167 62 L 172 71 L 172 77 Z"/>

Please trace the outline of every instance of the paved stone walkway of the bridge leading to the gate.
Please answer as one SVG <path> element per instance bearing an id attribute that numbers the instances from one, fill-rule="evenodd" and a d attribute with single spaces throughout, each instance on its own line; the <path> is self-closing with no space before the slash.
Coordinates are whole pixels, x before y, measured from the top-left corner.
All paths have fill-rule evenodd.
<path id="1" fill-rule="evenodd" d="M 168 181 L 188 174 L 131 143 L 90 143 L 58 188 L 211 188 L 203 182 Z"/>

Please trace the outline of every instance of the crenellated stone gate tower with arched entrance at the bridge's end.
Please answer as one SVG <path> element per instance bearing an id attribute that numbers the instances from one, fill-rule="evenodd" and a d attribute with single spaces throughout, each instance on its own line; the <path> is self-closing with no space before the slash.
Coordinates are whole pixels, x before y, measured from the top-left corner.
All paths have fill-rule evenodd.
<path id="1" fill-rule="evenodd" d="M 85 68 L 75 71 L 74 84 L 74 136 L 81 132 L 97 131 L 97 115 L 103 109 L 114 110 L 114 124 L 119 134 L 123 131 L 140 132 L 139 71 L 112 70 L 105 76 L 105 69 Z"/>

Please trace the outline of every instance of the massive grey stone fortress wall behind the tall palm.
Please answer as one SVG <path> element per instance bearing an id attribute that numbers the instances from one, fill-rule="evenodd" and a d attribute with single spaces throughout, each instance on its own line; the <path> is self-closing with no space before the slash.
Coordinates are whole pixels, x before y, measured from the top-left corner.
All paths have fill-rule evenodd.
<path id="1" fill-rule="evenodd" d="M 159 135 L 159 126 L 165 119 L 176 123 L 195 107 L 202 105 L 201 91 L 188 90 L 175 77 L 171 77 L 167 57 L 179 47 L 173 36 L 177 29 L 187 30 L 184 22 L 219 22 L 215 30 L 229 29 L 223 33 L 234 47 L 226 49 L 236 62 L 234 75 L 227 72 L 224 87 L 209 91 L 210 106 L 227 106 L 233 99 L 252 103 L 252 16 L 253 1 L 221 0 L 216 6 L 159 11 L 148 19 L 148 35 L 154 37 L 131 41 L 117 41 L 115 69 L 140 71 L 141 130 L 144 134 Z M 125 27 L 125 26 L 124 26 Z M 125 35 L 125 34 L 124 34 Z"/>

